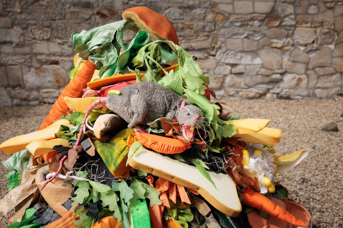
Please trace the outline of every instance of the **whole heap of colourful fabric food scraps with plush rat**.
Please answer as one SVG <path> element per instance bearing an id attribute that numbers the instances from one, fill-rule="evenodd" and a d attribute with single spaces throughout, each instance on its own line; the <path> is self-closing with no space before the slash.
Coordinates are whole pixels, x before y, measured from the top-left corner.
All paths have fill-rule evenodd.
<path id="1" fill-rule="evenodd" d="M 8 228 L 312 227 L 277 173 L 315 149 L 278 157 L 282 132 L 211 103 L 166 17 L 122 16 L 71 35 L 71 81 L 42 126 L 0 145 Z"/>

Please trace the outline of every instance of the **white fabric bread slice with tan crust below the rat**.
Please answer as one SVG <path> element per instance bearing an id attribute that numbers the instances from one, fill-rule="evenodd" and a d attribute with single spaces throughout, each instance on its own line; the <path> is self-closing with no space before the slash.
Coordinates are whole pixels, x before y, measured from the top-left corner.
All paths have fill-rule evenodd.
<path id="1" fill-rule="evenodd" d="M 217 210 L 229 216 L 238 216 L 242 206 L 236 185 L 229 175 L 209 172 L 215 187 L 199 173 L 195 166 L 168 158 L 150 150 L 134 154 L 129 165 L 134 169 L 167 179 L 178 185 L 196 190 Z"/>

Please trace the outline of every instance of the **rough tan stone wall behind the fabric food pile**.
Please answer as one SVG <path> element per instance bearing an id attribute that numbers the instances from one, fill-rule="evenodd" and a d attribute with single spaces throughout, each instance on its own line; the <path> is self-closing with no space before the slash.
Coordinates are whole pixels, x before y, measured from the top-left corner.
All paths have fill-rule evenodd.
<path id="1" fill-rule="evenodd" d="M 341 0 L 0 0 L 0 106 L 54 102 L 73 67 L 71 33 L 139 5 L 173 22 L 219 98 L 342 92 Z"/>

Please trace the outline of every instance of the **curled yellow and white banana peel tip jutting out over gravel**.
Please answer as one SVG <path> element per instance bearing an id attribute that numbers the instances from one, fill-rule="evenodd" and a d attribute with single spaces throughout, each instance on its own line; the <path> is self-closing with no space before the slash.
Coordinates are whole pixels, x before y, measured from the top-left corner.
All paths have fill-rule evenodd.
<path id="1" fill-rule="evenodd" d="M 301 162 L 309 153 L 315 151 L 316 148 L 307 148 L 298 150 L 289 155 L 280 156 L 279 164 L 277 165 L 277 173 L 284 173 L 293 169 Z"/>

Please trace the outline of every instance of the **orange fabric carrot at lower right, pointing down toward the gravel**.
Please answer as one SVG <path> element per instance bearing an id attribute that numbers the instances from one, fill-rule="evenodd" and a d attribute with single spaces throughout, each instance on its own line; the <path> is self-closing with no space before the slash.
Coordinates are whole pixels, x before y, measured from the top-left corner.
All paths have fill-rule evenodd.
<path id="1" fill-rule="evenodd" d="M 282 207 L 276 205 L 260 193 L 257 193 L 252 189 L 245 189 L 241 194 L 243 196 L 243 204 L 260 209 L 284 222 L 291 223 L 293 226 L 307 227 L 307 224 L 304 221 L 297 219 L 294 215 L 285 211 Z"/>

